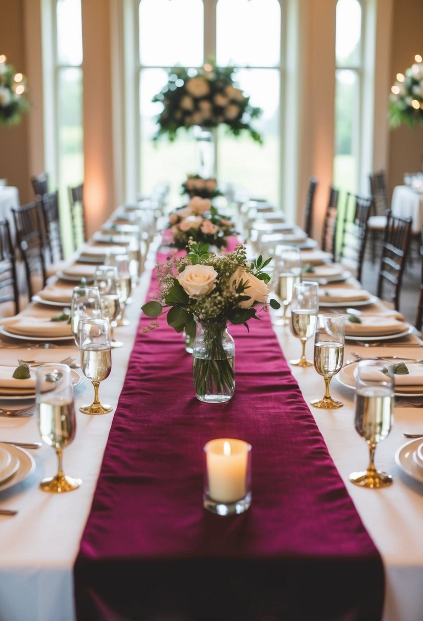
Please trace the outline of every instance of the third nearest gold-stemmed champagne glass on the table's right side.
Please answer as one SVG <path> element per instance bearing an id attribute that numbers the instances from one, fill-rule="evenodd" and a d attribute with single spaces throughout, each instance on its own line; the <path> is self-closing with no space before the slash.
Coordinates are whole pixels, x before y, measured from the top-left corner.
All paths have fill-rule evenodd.
<path id="1" fill-rule="evenodd" d="M 313 366 L 306 359 L 306 342 L 314 333 L 319 310 L 318 283 L 295 283 L 291 301 L 291 330 L 299 338 L 303 353 L 299 360 L 290 360 L 294 366 Z"/>

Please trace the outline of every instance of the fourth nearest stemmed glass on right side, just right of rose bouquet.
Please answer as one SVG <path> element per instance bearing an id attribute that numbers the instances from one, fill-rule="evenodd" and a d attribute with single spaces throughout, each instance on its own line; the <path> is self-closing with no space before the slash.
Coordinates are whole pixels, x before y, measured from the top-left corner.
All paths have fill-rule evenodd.
<path id="1" fill-rule="evenodd" d="M 274 292 L 278 301 L 282 303 L 280 311 L 272 311 L 274 325 L 288 325 L 287 310 L 292 300 L 293 286 L 301 282 L 301 253 L 293 246 L 281 247 L 275 256 L 275 271 L 273 275 Z"/>

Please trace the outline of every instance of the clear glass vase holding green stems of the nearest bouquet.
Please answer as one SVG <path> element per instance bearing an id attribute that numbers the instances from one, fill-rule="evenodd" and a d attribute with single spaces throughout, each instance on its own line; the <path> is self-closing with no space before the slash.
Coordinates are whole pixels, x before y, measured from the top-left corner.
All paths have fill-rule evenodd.
<path id="1" fill-rule="evenodd" d="M 226 323 L 203 322 L 192 348 L 195 396 L 205 403 L 225 403 L 235 389 L 234 340 Z"/>

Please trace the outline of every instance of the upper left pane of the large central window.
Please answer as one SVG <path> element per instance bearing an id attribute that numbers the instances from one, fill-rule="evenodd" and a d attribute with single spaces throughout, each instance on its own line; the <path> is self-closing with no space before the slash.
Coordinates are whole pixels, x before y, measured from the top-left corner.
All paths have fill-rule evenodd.
<path id="1" fill-rule="evenodd" d="M 139 24 L 141 65 L 203 64 L 202 0 L 141 0 Z"/>

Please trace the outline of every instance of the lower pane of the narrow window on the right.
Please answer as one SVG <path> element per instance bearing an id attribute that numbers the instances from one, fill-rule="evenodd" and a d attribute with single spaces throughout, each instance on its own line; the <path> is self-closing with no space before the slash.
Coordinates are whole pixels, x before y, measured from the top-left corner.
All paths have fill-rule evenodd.
<path id="1" fill-rule="evenodd" d="M 337 70 L 335 84 L 334 183 L 355 191 L 358 165 L 358 76 L 355 71 Z"/>

